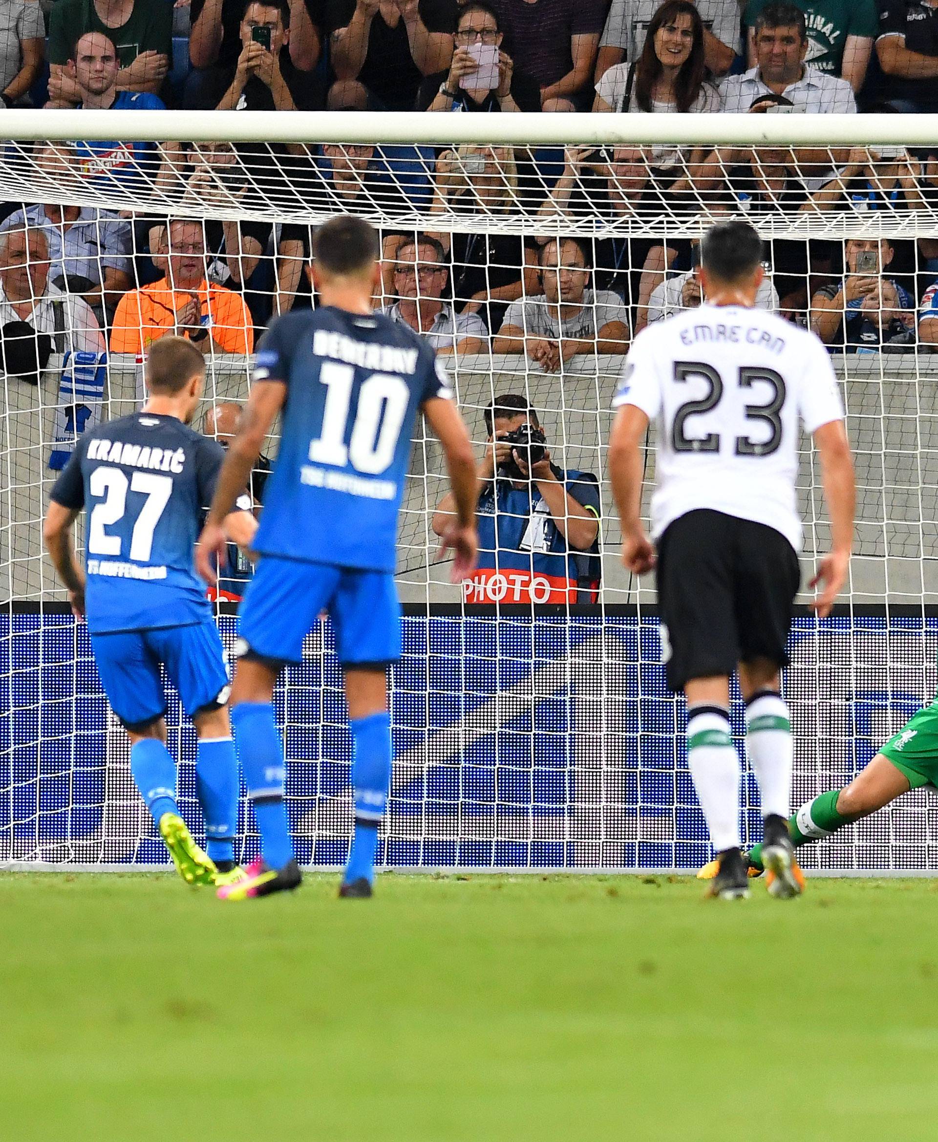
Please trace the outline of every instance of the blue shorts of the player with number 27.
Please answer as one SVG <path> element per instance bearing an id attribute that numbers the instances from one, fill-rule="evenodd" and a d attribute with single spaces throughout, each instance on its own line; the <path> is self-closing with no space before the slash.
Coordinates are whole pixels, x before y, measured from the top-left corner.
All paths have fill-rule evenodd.
<path id="1" fill-rule="evenodd" d="M 212 619 L 187 627 L 91 635 L 91 650 L 111 708 L 128 729 L 165 714 L 161 665 L 189 717 L 228 699 L 225 650 Z"/>

